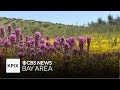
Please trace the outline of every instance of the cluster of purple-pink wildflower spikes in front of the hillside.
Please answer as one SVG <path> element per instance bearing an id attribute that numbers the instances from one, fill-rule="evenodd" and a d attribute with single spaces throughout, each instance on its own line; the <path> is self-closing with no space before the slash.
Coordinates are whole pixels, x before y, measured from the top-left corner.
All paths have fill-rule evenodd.
<path id="1" fill-rule="evenodd" d="M 65 56 L 78 55 L 79 52 L 83 52 L 84 44 L 88 44 L 88 49 L 91 42 L 91 37 L 87 38 L 80 36 L 78 40 L 75 37 L 65 38 L 64 36 L 55 38 L 53 43 L 50 42 L 49 36 L 45 39 L 41 32 L 35 32 L 33 36 L 26 35 L 22 37 L 21 28 L 12 30 L 12 26 L 8 25 L 8 39 L 5 37 L 5 27 L 0 27 L 0 46 L 1 47 L 13 47 L 16 49 L 17 56 L 22 59 L 25 56 L 30 58 L 37 58 L 39 56 L 46 57 L 50 53 L 63 53 Z M 79 48 L 77 47 L 79 42 Z M 17 47 L 16 47 L 17 46 Z"/>

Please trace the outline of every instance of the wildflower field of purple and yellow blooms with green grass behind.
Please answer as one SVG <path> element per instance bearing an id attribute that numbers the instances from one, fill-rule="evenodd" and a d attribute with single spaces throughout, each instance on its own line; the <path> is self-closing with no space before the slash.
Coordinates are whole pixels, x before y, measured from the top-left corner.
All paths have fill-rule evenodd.
<path id="1" fill-rule="evenodd" d="M 0 77 L 119 77 L 120 26 L 39 26 L 27 21 L 25 26 L 22 20 L 14 26 L 11 22 L 0 27 Z M 51 60 L 54 71 L 8 75 L 6 58 Z"/>

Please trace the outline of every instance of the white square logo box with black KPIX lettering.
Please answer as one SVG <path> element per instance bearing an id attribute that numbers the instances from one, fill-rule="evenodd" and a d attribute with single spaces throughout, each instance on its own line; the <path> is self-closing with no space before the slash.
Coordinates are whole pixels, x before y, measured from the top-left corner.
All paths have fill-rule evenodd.
<path id="1" fill-rule="evenodd" d="M 20 73 L 20 59 L 6 59 L 6 73 Z"/>

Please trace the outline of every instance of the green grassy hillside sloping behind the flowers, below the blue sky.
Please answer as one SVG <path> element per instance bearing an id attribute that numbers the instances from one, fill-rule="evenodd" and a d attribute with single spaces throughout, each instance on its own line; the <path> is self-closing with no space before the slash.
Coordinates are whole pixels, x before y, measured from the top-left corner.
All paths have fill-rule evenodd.
<path id="1" fill-rule="evenodd" d="M 89 27 L 85 26 L 73 26 L 73 25 L 64 25 L 51 22 L 42 22 L 35 20 L 23 20 L 15 18 L 0 18 L 0 26 L 4 25 L 7 28 L 7 25 L 11 24 L 13 30 L 15 27 L 22 28 L 22 33 L 24 35 L 33 35 L 36 31 L 40 31 L 43 36 L 75 36 L 80 35 L 87 36 L 105 36 L 106 38 L 120 36 L 120 25 L 90 25 Z"/>

